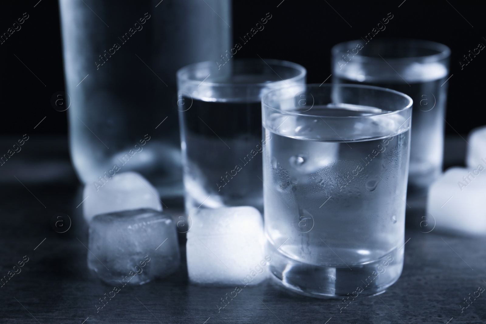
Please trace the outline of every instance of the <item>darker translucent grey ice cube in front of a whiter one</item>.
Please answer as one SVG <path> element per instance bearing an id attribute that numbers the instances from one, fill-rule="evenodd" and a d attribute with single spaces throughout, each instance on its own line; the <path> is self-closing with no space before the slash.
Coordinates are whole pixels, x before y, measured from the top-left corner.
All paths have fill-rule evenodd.
<path id="1" fill-rule="evenodd" d="M 97 215 L 89 223 L 88 241 L 88 268 L 118 287 L 141 285 L 179 267 L 174 222 L 153 209 Z"/>

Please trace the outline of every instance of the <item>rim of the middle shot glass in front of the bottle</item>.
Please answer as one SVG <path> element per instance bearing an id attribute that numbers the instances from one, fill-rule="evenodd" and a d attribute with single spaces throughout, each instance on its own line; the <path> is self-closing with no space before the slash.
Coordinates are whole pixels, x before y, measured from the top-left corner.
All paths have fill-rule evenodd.
<path id="1" fill-rule="evenodd" d="M 177 70 L 177 81 L 182 81 L 184 83 L 192 83 L 195 85 L 206 85 L 206 86 L 211 86 L 211 87 L 250 87 L 250 86 L 255 86 L 255 87 L 266 87 L 269 84 L 284 84 L 285 81 L 289 82 L 295 82 L 296 80 L 300 80 L 302 78 L 305 78 L 307 76 L 307 69 L 304 68 L 302 65 L 290 62 L 290 61 L 285 61 L 285 60 L 277 60 L 277 59 L 257 59 L 257 58 L 238 58 L 234 59 L 234 62 L 238 62 L 238 64 L 245 64 L 245 65 L 252 65 L 252 66 L 257 66 L 257 65 L 266 65 L 269 68 L 273 70 L 271 66 L 280 66 L 280 67 L 287 67 L 287 68 L 293 68 L 296 71 L 298 71 L 298 74 L 295 75 L 292 78 L 287 78 L 287 79 L 281 79 L 278 81 L 271 81 L 271 82 L 260 82 L 260 83 L 226 83 L 226 82 L 210 82 L 210 81 L 201 81 L 201 80 L 196 80 L 195 78 L 190 78 L 188 77 L 189 72 L 200 69 L 200 68 L 211 68 L 210 66 L 214 65 L 214 61 L 203 61 L 203 62 L 197 62 L 197 63 L 192 63 L 189 65 L 186 65 L 185 67 L 182 67 Z M 275 72 L 275 71 L 274 71 Z M 275 72 L 277 74 L 277 72 Z M 280 77 L 277 74 L 278 77 Z"/>

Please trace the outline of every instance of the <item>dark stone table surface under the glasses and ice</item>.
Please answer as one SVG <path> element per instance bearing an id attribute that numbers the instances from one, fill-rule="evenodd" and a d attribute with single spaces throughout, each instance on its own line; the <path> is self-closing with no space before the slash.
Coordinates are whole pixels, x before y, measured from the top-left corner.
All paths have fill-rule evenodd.
<path id="1" fill-rule="evenodd" d="M 0 149 L 8 143 L 1 141 Z M 456 144 L 462 147 L 448 141 L 454 155 Z M 486 238 L 430 231 L 433 224 L 420 226 L 419 217 L 407 221 L 398 282 L 378 296 L 358 296 L 341 311 L 339 300 L 295 295 L 272 282 L 244 288 L 218 311 L 216 305 L 234 288 L 189 284 L 184 262 L 167 278 L 121 288 L 97 311 L 113 287 L 87 269 L 87 225 L 82 206 L 76 208 L 83 197 L 66 140 L 32 138 L 0 167 L 0 180 L 0 275 L 9 278 L 23 264 L 0 285 L 1 323 L 486 323 L 486 293 L 470 297 L 486 287 Z M 180 201 L 164 204 L 174 215 L 181 210 Z M 64 233 L 52 228 L 56 213 L 71 220 Z M 183 245 L 182 253 L 185 260 Z"/>

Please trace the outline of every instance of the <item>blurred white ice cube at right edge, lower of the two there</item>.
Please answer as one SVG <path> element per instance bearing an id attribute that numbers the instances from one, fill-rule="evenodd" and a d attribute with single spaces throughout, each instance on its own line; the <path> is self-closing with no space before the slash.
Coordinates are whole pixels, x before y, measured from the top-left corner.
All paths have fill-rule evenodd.
<path id="1" fill-rule="evenodd" d="M 486 171 L 451 168 L 429 188 L 427 230 L 486 234 Z"/>

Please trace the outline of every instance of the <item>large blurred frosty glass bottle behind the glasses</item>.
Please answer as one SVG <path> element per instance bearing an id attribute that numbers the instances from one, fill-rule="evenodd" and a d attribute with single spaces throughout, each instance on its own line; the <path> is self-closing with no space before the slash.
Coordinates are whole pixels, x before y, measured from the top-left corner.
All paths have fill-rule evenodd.
<path id="1" fill-rule="evenodd" d="M 102 186 L 117 172 L 138 171 L 161 196 L 182 195 L 175 72 L 216 65 L 231 48 L 230 0 L 59 4 L 79 178 Z"/>

